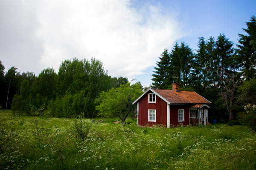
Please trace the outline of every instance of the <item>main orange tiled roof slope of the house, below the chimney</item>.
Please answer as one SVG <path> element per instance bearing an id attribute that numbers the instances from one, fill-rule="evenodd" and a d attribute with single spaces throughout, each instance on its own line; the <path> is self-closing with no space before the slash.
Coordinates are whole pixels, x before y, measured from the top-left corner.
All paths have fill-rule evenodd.
<path id="1" fill-rule="evenodd" d="M 194 91 L 175 91 L 164 89 L 152 89 L 166 99 L 170 104 L 209 104 L 207 99 Z"/>

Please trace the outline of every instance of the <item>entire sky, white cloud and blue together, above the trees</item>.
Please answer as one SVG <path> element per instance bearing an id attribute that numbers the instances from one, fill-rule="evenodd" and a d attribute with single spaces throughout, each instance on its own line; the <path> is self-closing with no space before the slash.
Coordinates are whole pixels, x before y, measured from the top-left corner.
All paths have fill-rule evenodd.
<path id="1" fill-rule="evenodd" d="M 256 0 L 0 0 L 0 61 L 38 76 L 93 57 L 145 87 L 165 48 L 196 52 L 199 37 L 219 34 L 238 44 L 253 15 Z"/>

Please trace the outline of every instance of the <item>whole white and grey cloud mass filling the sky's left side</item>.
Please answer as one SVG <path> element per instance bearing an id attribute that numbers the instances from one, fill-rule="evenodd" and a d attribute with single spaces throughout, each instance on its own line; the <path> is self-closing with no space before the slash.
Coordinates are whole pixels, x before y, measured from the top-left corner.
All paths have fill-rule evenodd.
<path id="1" fill-rule="evenodd" d="M 37 75 L 65 59 L 95 57 L 111 76 L 136 77 L 181 37 L 174 11 L 130 0 L 0 1 L 0 58 Z M 149 78 L 150 79 L 150 78 Z"/>

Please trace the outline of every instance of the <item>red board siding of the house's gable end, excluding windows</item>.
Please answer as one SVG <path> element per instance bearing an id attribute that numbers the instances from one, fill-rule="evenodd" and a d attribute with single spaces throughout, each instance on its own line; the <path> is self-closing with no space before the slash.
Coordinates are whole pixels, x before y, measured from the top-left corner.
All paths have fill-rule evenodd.
<path id="1" fill-rule="evenodd" d="M 148 92 L 150 93 L 150 92 Z M 139 125 L 163 124 L 167 126 L 167 103 L 156 95 L 156 103 L 148 103 L 148 93 L 139 101 Z M 156 122 L 148 122 L 148 109 L 156 110 Z"/>

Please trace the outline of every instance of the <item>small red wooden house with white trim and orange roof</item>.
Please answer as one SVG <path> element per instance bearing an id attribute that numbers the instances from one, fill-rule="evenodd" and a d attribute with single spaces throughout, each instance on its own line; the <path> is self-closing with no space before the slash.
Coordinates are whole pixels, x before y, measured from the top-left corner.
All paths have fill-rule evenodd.
<path id="1" fill-rule="evenodd" d="M 133 104 L 137 104 L 137 124 L 207 125 L 207 99 L 194 91 L 180 91 L 178 83 L 173 90 L 149 88 Z"/>

